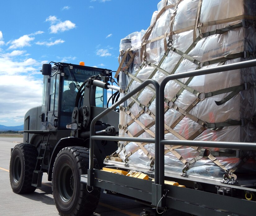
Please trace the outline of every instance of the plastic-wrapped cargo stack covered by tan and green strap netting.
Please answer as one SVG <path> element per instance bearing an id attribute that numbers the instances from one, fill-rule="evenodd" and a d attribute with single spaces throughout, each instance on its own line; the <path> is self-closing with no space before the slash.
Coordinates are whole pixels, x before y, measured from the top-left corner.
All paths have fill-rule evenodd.
<path id="1" fill-rule="evenodd" d="M 120 42 L 121 95 L 147 79 L 255 58 L 255 1 L 162 0 L 150 27 Z M 255 142 L 255 68 L 173 80 L 165 87 L 165 139 Z M 155 137 L 155 90 L 120 106 L 119 136 Z M 119 142 L 112 157 L 154 169 L 154 144 Z M 165 145 L 165 172 L 223 177 L 255 171 L 255 152 Z M 239 169 L 240 170 L 240 169 Z M 242 170 L 242 169 L 241 169 Z M 230 180 L 229 180 L 230 179 Z"/>

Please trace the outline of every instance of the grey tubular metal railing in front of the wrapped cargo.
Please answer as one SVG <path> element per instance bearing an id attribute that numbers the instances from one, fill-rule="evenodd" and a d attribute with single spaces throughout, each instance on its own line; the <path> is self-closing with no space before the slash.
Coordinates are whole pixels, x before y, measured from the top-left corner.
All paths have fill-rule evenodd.
<path id="1" fill-rule="evenodd" d="M 93 152 L 94 140 L 111 140 L 111 141 L 127 141 L 127 142 L 146 142 L 155 143 L 155 184 L 164 185 L 164 145 L 183 145 L 183 146 L 198 146 L 198 147 L 216 147 L 216 148 L 234 148 L 234 149 L 250 149 L 256 150 L 256 143 L 234 143 L 234 142 L 210 142 L 210 141 L 194 141 L 194 140 L 165 140 L 164 139 L 164 88 L 166 84 L 175 79 L 182 79 L 186 77 L 194 77 L 211 73 L 218 73 L 241 68 L 255 67 L 256 60 L 248 60 L 233 64 L 217 66 L 214 68 L 205 68 L 194 70 L 185 73 L 173 74 L 164 78 L 160 86 L 155 80 L 146 80 L 140 86 L 130 91 L 118 102 L 113 104 L 110 108 L 99 114 L 92 120 L 90 127 L 90 162 L 89 169 L 93 169 Z M 138 91 L 144 89 L 147 85 L 153 84 L 155 87 L 155 138 L 137 138 L 137 137 L 115 137 L 115 136 L 96 136 L 94 135 L 94 126 L 98 119 L 106 115 L 111 110 L 122 104 L 125 100 L 136 94 Z"/>

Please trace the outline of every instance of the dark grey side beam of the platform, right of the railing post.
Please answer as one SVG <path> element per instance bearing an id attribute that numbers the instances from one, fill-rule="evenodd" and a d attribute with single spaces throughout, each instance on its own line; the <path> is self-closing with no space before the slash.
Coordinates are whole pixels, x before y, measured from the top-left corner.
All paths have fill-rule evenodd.
<path id="1" fill-rule="evenodd" d="M 208 210 L 213 210 L 213 212 L 216 212 L 218 209 L 219 212 L 223 211 L 223 214 L 220 215 L 235 214 L 252 216 L 255 214 L 256 205 L 254 201 L 243 200 L 184 187 L 172 187 L 167 185 L 167 189 L 169 192 L 167 194 L 166 205 L 169 208 L 178 208 L 180 211 L 187 210 L 191 214 L 199 214 L 199 216 L 212 214 L 200 214 L 198 211 L 191 212 L 190 206 L 193 206 L 192 209 L 194 207 L 200 207 L 200 209 L 206 208 Z M 185 206 L 186 204 L 188 205 Z M 214 216 L 215 215 L 216 214 L 214 214 Z"/>

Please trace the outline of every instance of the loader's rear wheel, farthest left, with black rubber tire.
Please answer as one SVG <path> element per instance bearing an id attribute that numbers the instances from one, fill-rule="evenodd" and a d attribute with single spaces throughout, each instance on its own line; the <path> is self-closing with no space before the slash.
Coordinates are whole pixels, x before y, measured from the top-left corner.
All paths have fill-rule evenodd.
<path id="1" fill-rule="evenodd" d="M 31 183 L 37 155 L 36 147 L 29 143 L 20 143 L 13 148 L 10 160 L 10 183 L 13 192 L 22 194 L 35 191 L 36 187 Z"/>

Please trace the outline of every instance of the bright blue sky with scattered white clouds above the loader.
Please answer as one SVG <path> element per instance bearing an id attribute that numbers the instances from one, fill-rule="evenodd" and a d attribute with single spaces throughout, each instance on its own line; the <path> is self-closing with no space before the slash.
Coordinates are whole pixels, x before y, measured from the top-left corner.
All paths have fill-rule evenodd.
<path id="1" fill-rule="evenodd" d="M 2 1 L 0 124 L 22 125 L 41 104 L 44 63 L 117 70 L 120 40 L 147 29 L 159 1 Z"/>

